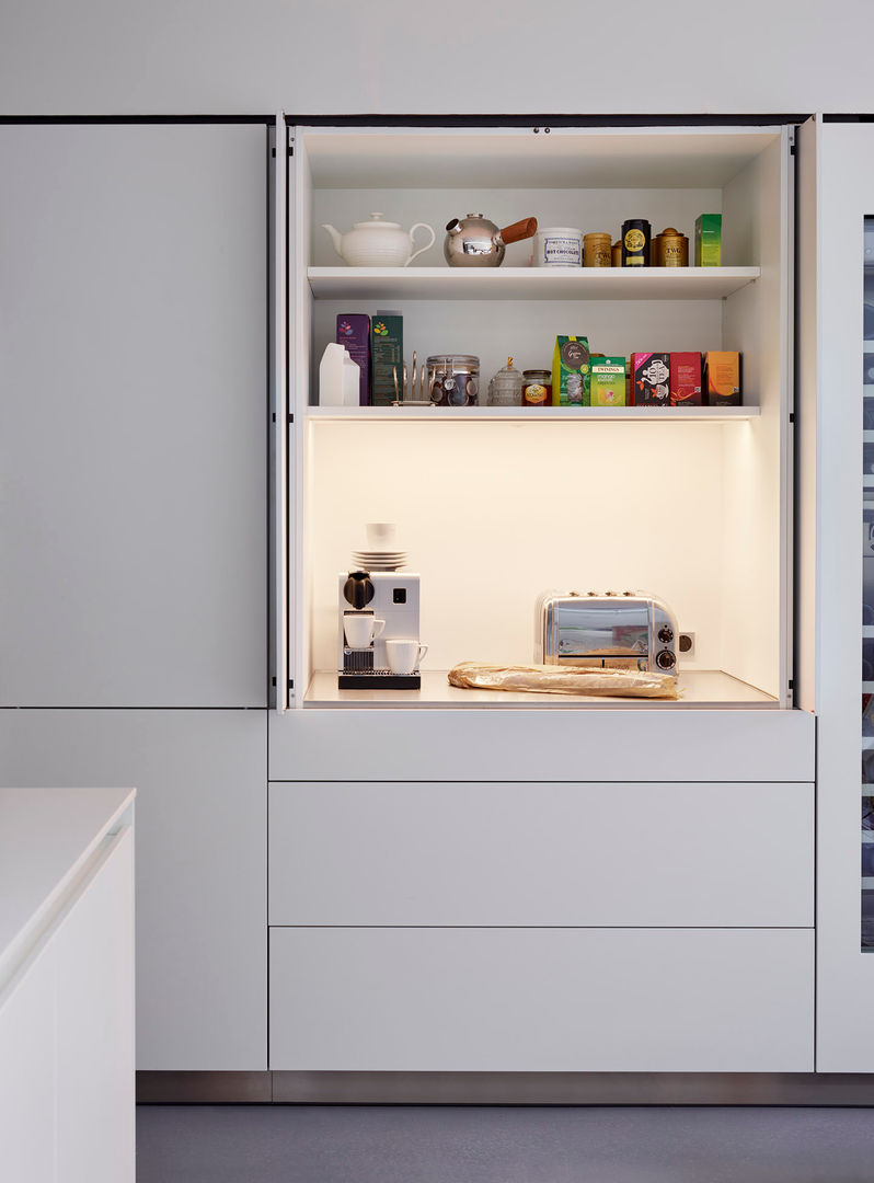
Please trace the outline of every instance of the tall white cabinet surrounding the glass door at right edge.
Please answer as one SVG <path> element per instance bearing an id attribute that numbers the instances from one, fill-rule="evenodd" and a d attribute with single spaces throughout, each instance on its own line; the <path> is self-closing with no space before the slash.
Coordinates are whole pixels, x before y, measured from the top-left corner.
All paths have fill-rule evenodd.
<path id="1" fill-rule="evenodd" d="M 872 1072 L 874 681 L 863 667 L 874 644 L 874 128 L 810 121 L 802 128 L 801 168 L 799 411 L 809 529 L 799 592 L 804 631 L 816 642 L 802 681 L 817 716 L 816 1064 L 821 1072 Z"/>

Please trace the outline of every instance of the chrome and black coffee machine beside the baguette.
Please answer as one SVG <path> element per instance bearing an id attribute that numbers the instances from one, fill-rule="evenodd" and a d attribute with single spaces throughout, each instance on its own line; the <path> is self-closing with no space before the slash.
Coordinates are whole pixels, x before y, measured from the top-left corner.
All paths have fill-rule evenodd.
<path id="1" fill-rule="evenodd" d="M 341 571 L 341 690 L 419 690 L 419 666 L 393 673 L 386 641 L 419 639 L 419 576 L 410 571 Z"/>

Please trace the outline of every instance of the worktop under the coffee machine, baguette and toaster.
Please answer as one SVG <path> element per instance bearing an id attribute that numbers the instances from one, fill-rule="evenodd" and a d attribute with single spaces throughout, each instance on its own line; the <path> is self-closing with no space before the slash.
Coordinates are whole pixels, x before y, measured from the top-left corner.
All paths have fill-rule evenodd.
<path id="1" fill-rule="evenodd" d="M 732 678 L 721 670 L 690 670 L 680 677 L 682 698 L 676 702 L 653 698 L 590 698 L 583 694 L 538 694 L 507 691 L 459 690 L 451 686 L 445 670 L 422 671 L 421 690 L 339 690 L 334 670 L 319 670 L 312 675 L 304 706 L 317 707 L 458 707 L 525 710 L 616 710 L 643 711 L 726 710 L 742 707 L 779 707 L 779 700 L 749 683 Z"/>

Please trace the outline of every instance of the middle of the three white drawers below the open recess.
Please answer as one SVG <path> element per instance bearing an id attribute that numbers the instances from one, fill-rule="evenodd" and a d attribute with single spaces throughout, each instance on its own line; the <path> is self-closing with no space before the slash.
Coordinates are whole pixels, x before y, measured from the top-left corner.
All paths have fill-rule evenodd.
<path id="1" fill-rule="evenodd" d="M 273 783 L 270 923 L 814 923 L 813 784 Z"/>

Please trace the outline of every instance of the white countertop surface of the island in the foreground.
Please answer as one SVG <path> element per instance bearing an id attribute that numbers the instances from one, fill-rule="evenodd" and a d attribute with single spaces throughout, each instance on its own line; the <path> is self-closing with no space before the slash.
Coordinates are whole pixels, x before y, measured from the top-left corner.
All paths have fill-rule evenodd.
<path id="1" fill-rule="evenodd" d="M 135 789 L 0 789 L 0 993 Z"/>

